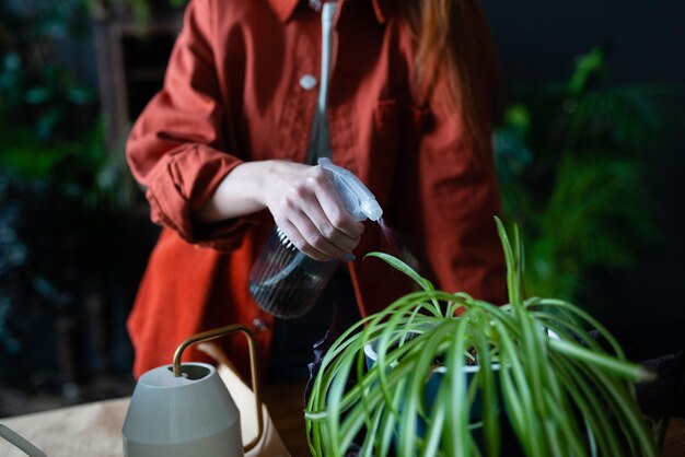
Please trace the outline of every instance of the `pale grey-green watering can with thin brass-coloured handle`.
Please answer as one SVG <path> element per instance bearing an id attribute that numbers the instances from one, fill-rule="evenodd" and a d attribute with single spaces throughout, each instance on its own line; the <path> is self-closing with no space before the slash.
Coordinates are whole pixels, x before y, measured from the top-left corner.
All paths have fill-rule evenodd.
<path id="1" fill-rule="evenodd" d="M 189 345 L 234 332 L 243 333 L 249 343 L 257 409 L 257 436 L 246 445 L 239 409 L 217 370 L 206 363 L 181 363 Z M 255 338 L 246 327 L 228 326 L 188 338 L 176 349 L 172 365 L 150 370 L 138 379 L 121 430 L 124 456 L 244 456 L 264 431 L 258 386 Z"/>

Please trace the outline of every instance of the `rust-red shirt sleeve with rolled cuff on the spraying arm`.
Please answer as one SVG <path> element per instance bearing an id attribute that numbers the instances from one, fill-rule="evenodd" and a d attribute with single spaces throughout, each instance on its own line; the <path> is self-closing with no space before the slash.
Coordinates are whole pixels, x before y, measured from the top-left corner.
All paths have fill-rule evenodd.
<path id="1" fill-rule="evenodd" d="M 189 243 L 236 249 L 251 216 L 211 225 L 193 214 L 223 177 L 242 163 L 225 151 L 225 116 L 214 68 L 209 0 L 193 0 L 166 68 L 163 89 L 150 101 L 128 138 L 126 154 L 147 188 L 153 222 Z"/>

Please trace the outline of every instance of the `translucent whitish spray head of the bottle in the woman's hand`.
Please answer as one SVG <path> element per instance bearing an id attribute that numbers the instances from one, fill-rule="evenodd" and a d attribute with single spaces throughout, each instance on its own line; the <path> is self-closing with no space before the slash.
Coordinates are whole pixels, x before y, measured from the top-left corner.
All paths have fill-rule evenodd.
<path id="1" fill-rule="evenodd" d="M 322 157 L 318 165 L 333 175 L 333 185 L 342 199 L 347 210 L 358 221 L 370 219 L 378 221 L 383 215 L 381 206 L 375 201 L 375 197 L 362 184 L 361 180 L 347 169 L 334 165 L 329 159 Z"/>

